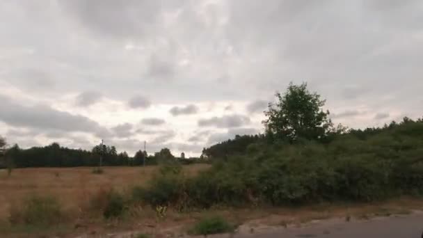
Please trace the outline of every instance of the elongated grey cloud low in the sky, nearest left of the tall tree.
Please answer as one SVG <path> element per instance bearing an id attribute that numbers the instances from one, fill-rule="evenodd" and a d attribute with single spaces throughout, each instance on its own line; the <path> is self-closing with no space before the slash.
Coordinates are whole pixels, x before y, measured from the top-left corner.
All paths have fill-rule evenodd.
<path id="1" fill-rule="evenodd" d="M 250 123 L 250 118 L 244 115 L 234 114 L 231 116 L 213 117 L 209 119 L 198 120 L 199 127 L 218 127 L 218 128 L 229 128 L 229 127 L 241 127 Z"/>

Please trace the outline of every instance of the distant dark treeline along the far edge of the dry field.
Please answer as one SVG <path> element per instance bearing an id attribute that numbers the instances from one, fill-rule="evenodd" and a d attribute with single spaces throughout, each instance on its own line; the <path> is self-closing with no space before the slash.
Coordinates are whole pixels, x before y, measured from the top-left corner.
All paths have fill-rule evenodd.
<path id="1" fill-rule="evenodd" d="M 142 166 L 155 165 L 166 161 L 179 161 L 182 164 L 198 162 L 199 159 L 184 159 L 173 156 L 168 148 L 148 155 L 139 150 L 134 157 L 129 157 L 127 152 L 118 152 L 114 146 L 96 145 L 93 150 L 76 150 L 61 147 L 52 143 L 44 147 L 29 149 L 13 145 L 4 150 L 0 167 L 77 167 L 77 166 Z"/>

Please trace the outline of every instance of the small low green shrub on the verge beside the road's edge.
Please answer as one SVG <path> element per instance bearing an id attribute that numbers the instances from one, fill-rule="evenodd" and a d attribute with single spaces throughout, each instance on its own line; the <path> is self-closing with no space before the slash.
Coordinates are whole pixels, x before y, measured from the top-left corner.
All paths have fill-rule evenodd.
<path id="1" fill-rule="evenodd" d="M 190 233 L 192 233 L 193 235 L 213 235 L 233 232 L 234 230 L 234 225 L 231 225 L 222 217 L 212 216 L 209 218 L 202 219 L 195 223 L 193 228 L 190 230 Z"/>

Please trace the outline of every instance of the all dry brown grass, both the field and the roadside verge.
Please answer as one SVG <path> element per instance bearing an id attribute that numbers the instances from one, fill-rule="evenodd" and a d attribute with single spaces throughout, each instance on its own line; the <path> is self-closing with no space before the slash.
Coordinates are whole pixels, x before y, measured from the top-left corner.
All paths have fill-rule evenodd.
<path id="1" fill-rule="evenodd" d="M 195 175 L 209 167 L 206 164 L 183 166 L 184 174 Z M 79 207 L 87 203 L 101 189 L 113 188 L 128 193 L 134 185 L 144 186 L 158 172 L 158 166 L 143 167 L 104 167 L 104 173 L 92 173 L 93 168 L 19 168 L 8 176 L 0 170 L 0 222 L 7 222 L 10 206 L 34 194 L 51 195 L 58 198 L 67 215 L 75 218 Z M 231 223 L 239 224 L 238 232 L 301 225 L 314 220 L 337 218 L 369 219 L 372 216 L 408 214 L 421 209 L 423 200 L 397 198 L 381 203 L 316 203 L 303 207 L 212 207 L 208 210 L 177 212 L 169 209 L 166 217 L 157 219 L 150 207 L 141 207 L 141 212 L 132 214 L 129 219 L 109 223 L 102 219 L 84 220 L 81 228 L 78 219 L 72 219 L 65 226 L 49 229 L 31 227 L 2 228 L 0 236 L 7 237 L 78 237 L 79 235 L 107 234 L 109 232 L 147 232 L 157 237 L 179 235 L 189 229 L 195 221 L 210 216 L 225 217 Z M 131 211 L 134 212 L 134 211 Z M 136 211 L 135 211 L 136 212 Z M 73 213 L 73 214 L 72 214 Z M 56 229 L 56 230 L 55 230 Z M 93 236 L 95 237 L 95 236 Z M 125 237 L 125 236 L 122 236 Z M 155 237 L 155 236 L 153 236 Z"/>

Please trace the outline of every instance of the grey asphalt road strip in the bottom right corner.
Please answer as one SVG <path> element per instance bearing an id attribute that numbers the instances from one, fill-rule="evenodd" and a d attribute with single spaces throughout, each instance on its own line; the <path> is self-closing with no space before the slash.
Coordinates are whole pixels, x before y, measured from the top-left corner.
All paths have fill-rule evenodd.
<path id="1" fill-rule="evenodd" d="M 392 216 L 369 221 L 322 222 L 305 228 L 287 228 L 273 232 L 234 235 L 238 238 L 420 238 L 423 232 L 423 214 Z"/>

